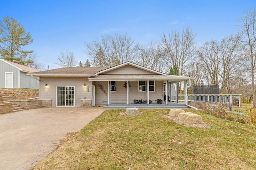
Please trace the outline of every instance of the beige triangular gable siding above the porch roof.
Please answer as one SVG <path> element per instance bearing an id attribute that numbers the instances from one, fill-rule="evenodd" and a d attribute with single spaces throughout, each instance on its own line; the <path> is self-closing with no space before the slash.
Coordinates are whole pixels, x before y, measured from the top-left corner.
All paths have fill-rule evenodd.
<path id="1" fill-rule="evenodd" d="M 149 72 L 147 70 L 142 70 L 141 68 L 138 68 L 138 67 L 126 65 L 108 72 L 104 72 L 103 74 L 154 74 L 154 73 Z"/>

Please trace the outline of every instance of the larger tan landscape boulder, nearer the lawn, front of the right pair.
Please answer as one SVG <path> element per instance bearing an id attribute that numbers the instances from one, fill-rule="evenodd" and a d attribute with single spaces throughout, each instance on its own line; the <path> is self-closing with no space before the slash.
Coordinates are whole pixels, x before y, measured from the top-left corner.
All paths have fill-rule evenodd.
<path id="1" fill-rule="evenodd" d="M 191 112 L 180 113 L 178 115 L 178 120 L 185 123 L 203 123 L 202 116 Z"/>

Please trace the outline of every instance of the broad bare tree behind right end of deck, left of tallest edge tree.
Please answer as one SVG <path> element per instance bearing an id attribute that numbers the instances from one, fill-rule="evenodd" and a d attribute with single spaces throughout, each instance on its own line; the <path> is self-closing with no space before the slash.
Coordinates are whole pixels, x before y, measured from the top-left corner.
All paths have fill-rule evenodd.
<path id="1" fill-rule="evenodd" d="M 206 81 L 210 85 L 219 85 L 220 93 L 228 88 L 228 82 L 232 75 L 239 70 L 243 57 L 241 37 L 231 35 L 220 42 L 205 42 L 198 50 L 198 57 L 202 62 L 202 68 Z M 227 89 L 229 91 L 229 89 Z"/>

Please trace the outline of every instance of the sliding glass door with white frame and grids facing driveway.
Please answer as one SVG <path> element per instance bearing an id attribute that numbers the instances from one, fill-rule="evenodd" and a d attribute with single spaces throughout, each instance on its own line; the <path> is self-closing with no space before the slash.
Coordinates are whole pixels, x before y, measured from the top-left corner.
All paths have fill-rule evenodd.
<path id="1" fill-rule="evenodd" d="M 57 106 L 74 106 L 74 86 L 57 86 Z"/>

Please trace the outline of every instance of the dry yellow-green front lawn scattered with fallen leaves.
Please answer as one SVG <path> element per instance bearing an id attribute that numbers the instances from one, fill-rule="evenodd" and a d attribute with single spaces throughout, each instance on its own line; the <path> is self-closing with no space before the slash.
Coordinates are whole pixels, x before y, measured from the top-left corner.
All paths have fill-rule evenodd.
<path id="1" fill-rule="evenodd" d="M 184 127 L 169 109 L 106 110 L 32 169 L 170 170 L 256 168 L 256 128 L 199 111 L 209 128 Z"/>

